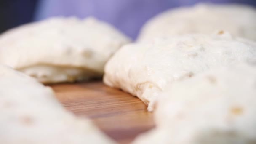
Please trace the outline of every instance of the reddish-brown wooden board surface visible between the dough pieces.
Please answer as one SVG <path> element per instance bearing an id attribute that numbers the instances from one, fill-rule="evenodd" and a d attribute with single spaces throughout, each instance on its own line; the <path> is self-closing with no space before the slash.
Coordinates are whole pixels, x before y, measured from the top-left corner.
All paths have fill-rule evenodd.
<path id="1" fill-rule="evenodd" d="M 61 103 L 78 116 L 87 116 L 108 136 L 127 144 L 154 127 L 152 112 L 137 97 L 109 88 L 101 81 L 51 85 Z"/>

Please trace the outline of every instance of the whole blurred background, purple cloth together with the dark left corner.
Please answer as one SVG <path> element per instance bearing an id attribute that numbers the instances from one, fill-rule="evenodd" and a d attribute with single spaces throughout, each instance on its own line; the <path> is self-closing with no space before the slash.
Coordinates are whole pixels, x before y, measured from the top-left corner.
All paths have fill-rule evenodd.
<path id="1" fill-rule="evenodd" d="M 200 2 L 256 6 L 256 0 L 0 0 L 0 32 L 53 16 L 94 16 L 135 39 L 142 25 L 158 13 Z"/>

